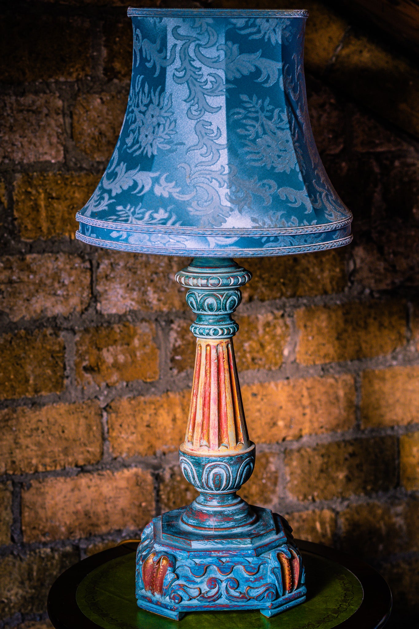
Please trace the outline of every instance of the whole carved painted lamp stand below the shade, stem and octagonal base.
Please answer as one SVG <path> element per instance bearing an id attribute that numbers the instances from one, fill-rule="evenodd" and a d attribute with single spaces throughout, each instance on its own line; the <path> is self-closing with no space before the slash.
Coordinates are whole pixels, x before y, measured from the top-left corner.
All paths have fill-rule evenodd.
<path id="1" fill-rule="evenodd" d="M 274 616 L 305 600 L 304 568 L 281 516 L 236 491 L 255 459 L 242 408 L 232 313 L 251 274 L 231 259 L 195 258 L 177 274 L 197 315 L 183 476 L 200 495 L 144 528 L 136 559 L 138 606 L 175 620 L 187 611 L 260 610 Z"/>

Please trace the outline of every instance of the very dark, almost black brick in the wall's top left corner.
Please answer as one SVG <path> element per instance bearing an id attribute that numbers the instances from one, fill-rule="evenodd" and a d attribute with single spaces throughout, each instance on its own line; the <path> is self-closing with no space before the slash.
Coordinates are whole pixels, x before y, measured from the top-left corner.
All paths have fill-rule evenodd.
<path id="1" fill-rule="evenodd" d="M 48 43 L 48 45 L 46 45 Z M 90 72 L 89 21 L 16 12 L 0 18 L 0 81 L 81 79 Z"/>

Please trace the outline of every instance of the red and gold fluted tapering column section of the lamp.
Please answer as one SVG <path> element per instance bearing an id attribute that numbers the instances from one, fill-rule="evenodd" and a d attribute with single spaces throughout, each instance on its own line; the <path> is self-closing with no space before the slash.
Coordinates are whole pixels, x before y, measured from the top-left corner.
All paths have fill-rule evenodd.
<path id="1" fill-rule="evenodd" d="M 194 454 L 249 448 L 232 338 L 197 338 L 192 397 L 182 450 Z"/>

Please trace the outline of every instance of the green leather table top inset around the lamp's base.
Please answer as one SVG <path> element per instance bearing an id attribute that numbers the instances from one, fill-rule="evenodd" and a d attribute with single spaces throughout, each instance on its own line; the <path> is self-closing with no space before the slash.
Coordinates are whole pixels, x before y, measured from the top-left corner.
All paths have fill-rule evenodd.
<path id="1" fill-rule="evenodd" d="M 84 577 L 76 601 L 82 613 L 103 629 L 332 629 L 361 605 L 361 583 L 337 562 L 307 551 L 302 555 L 307 600 L 273 618 L 259 611 L 200 611 L 175 621 L 140 610 L 134 594 L 134 552 L 99 565 Z"/>

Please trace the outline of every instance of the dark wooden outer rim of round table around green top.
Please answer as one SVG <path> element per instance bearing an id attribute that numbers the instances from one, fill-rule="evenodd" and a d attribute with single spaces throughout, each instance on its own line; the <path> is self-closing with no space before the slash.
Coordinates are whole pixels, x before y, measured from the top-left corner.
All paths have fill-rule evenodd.
<path id="1" fill-rule="evenodd" d="M 391 613 L 391 591 L 381 574 L 356 557 L 333 548 L 303 540 L 295 542 L 301 550 L 343 565 L 361 582 L 364 589 L 361 605 L 350 618 L 336 625 L 334 629 L 381 629 L 385 625 Z M 102 550 L 68 568 L 58 577 L 50 589 L 47 601 L 48 616 L 55 629 L 103 629 L 80 610 L 76 601 L 77 587 L 99 565 L 135 552 L 136 547 L 136 542 L 126 542 L 115 548 Z M 182 621 L 179 629 L 182 629 Z"/>

